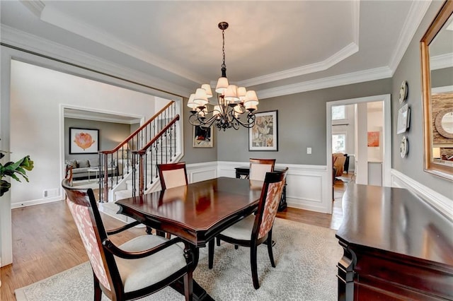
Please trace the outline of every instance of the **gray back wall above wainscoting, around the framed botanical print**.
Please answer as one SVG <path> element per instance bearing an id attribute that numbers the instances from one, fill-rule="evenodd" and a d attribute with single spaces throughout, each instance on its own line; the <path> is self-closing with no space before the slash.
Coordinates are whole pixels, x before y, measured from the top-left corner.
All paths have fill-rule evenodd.
<path id="1" fill-rule="evenodd" d="M 276 158 L 277 164 L 326 165 L 326 102 L 388 94 L 390 83 L 384 79 L 260 100 L 258 112 L 278 110 L 278 151 L 248 151 L 248 129 L 230 129 L 217 133 L 217 159 Z"/>

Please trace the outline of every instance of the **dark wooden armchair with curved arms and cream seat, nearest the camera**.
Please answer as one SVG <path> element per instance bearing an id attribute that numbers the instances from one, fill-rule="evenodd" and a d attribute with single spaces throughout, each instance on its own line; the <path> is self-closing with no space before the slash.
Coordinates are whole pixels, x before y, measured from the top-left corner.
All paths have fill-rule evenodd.
<path id="1" fill-rule="evenodd" d="M 69 211 L 91 263 L 94 300 L 104 293 L 110 300 L 135 300 L 182 279 L 185 300 L 193 298 L 193 259 L 187 242 L 157 235 L 140 235 L 117 246 L 109 235 L 139 225 L 138 221 L 107 231 L 92 189 L 69 187 L 62 181 Z M 185 249 L 177 242 L 183 242 Z"/>

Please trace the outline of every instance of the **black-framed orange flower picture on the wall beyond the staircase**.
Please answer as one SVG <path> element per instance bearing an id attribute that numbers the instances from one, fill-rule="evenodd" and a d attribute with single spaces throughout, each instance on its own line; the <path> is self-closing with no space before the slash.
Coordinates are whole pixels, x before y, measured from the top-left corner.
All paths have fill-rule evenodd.
<path id="1" fill-rule="evenodd" d="M 69 128 L 69 153 L 91 154 L 99 151 L 99 130 Z"/>

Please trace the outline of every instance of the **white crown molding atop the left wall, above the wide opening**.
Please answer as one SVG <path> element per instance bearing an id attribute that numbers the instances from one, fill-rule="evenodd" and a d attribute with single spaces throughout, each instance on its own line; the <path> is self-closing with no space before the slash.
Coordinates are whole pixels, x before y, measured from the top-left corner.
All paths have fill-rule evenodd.
<path id="1" fill-rule="evenodd" d="M 125 66 L 114 64 L 110 61 L 105 61 L 99 57 L 95 57 L 85 52 L 81 52 L 71 47 L 67 47 L 42 37 L 37 37 L 29 33 L 25 33 L 16 28 L 11 28 L 7 25 L 1 25 L 0 40 L 2 43 L 25 49 L 26 51 L 36 52 L 38 54 L 52 57 L 61 61 L 66 61 L 76 66 L 83 66 L 86 69 L 99 71 L 106 75 L 112 75 L 117 78 L 127 78 L 127 80 L 142 84 L 150 89 L 159 88 L 162 91 L 168 91 L 173 95 L 190 95 L 190 90 L 168 81 L 163 81 L 160 78 L 149 76 L 134 69 Z M 151 87 L 150 83 L 156 88 Z M 161 93 L 158 93 L 159 95 Z"/>

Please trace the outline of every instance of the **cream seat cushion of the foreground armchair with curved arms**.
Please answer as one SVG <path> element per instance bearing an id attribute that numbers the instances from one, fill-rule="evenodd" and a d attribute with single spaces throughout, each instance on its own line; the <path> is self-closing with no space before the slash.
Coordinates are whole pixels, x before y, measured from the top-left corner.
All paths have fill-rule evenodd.
<path id="1" fill-rule="evenodd" d="M 138 252 L 163 242 L 166 242 L 165 237 L 142 235 L 122 244 L 120 248 L 128 252 Z M 186 266 L 183 249 L 178 244 L 141 259 L 122 259 L 115 256 L 115 260 L 125 292 L 146 288 Z"/>

